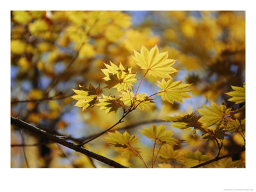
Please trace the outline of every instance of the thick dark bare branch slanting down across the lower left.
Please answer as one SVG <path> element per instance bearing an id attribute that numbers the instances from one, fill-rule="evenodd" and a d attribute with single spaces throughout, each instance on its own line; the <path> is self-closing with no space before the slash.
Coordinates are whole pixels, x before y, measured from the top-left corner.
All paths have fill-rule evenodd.
<path id="1" fill-rule="evenodd" d="M 126 166 L 124 166 L 120 163 L 117 163 L 116 161 L 108 159 L 107 157 L 104 157 L 104 156 L 100 156 L 99 154 L 95 154 L 94 152 L 91 152 L 90 150 L 87 150 L 86 148 L 75 145 L 74 143 L 70 143 L 66 140 L 63 140 L 62 138 L 58 138 L 57 136 L 54 136 L 54 135 L 50 134 L 49 132 L 39 129 L 38 127 L 30 125 L 26 122 L 23 122 L 22 120 L 19 120 L 18 118 L 15 118 L 13 116 L 11 116 L 11 124 L 16 125 L 18 127 L 22 127 L 28 131 L 31 131 L 31 132 L 37 134 L 40 137 L 47 138 L 48 140 L 59 143 L 65 147 L 71 148 L 77 152 L 80 152 L 81 154 L 92 157 L 93 159 L 97 159 L 98 161 L 100 161 L 102 163 L 106 163 L 109 166 L 113 166 L 115 168 L 127 168 Z"/>

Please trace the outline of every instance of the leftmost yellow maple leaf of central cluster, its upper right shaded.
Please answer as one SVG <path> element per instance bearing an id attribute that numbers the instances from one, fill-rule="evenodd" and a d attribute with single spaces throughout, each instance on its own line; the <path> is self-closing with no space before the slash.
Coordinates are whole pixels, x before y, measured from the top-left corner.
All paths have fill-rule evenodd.
<path id="1" fill-rule="evenodd" d="M 72 96 L 73 99 L 76 99 L 76 105 L 79 108 L 83 108 L 83 111 L 87 108 L 95 106 L 96 102 L 98 101 L 97 97 L 102 93 L 100 86 L 94 88 L 92 84 L 89 85 L 88 88 L 84 88 L 83 86 L 79 85 L 81 90 L 74 90 L 73 91 L 77 94 Z"/>

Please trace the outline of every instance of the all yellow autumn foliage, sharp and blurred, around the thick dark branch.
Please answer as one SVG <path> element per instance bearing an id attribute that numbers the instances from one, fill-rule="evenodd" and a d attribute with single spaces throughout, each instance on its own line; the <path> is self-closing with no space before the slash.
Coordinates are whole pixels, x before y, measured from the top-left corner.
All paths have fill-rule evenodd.
<path id="1" fill-rule="evenodd" d="M 131 168 L 245 168 L 244 26 L 244 12 L 13 11 L 11 115 Z M 11 128 L 12 167 L 109 168 Z"/>

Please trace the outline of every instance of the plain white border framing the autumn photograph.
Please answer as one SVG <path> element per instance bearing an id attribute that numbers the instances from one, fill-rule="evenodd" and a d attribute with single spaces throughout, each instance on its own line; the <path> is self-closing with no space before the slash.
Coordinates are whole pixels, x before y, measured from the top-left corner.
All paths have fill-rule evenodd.
<path id="1" fill-rule="evenodd" d="M 1 191 L 223 191 L 254 189 L 253 1 L 5 1 L 1 5 Z M 10 169 L 10 10 L 246 10 L 246 169 Z"/>

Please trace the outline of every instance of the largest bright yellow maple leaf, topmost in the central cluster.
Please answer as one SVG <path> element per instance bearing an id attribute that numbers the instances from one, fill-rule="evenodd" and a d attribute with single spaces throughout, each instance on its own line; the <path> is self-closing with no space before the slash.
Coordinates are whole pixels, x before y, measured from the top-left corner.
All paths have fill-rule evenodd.
<path id="1" fill-rule="evenodd" d="M 157 45 L 150 51 L 143 46 L 140 53 L 134 51 L 134 55 L 136 64 L 142 69 L 148 70 L 149 76 L 170 78 L 169 74 L 177 72 L 175 68 L 171 67 L 176 60 L 168 59 L 168 52 L 159 53 Z"/>

